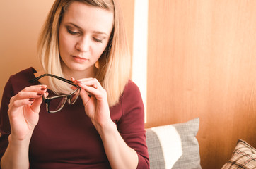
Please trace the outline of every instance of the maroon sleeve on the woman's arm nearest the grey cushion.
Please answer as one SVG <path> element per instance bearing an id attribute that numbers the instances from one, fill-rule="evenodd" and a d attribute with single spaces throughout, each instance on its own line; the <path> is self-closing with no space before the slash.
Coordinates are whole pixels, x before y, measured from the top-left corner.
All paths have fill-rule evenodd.
<path id="1" fill-rule="evenodd" d="M 117 127 L 124 141 L 139 156 L 137 168 L 149 168 L 149 154 L 144 129 L 144 105 L 139 88 L 132 81 L 129 81 L 124 89 L 122 117 L 117 123 Z"/>

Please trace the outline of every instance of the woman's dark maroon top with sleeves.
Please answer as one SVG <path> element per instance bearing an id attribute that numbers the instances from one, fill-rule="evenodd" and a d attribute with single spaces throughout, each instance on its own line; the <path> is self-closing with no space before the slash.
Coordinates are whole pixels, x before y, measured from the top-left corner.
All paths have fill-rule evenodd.
<path id="1" fill-rule="evenodd" d="M 33 68 L 12 75 L 4 89 L 0 110 L 0 160 L 8 146 L 11 133 L 8 104 L 35 78 Z M 35 82 L 34 84 L 39 84 Z M 149 168 L 149 154 L 144 130 L 144 106 L 139 88 L 129 81 L 120 102 L 110 108 L 111 118 L 124 141 L 139 156 L 137 168 Z M 110 168 L 103 142 L 84 112 L 81 97 L 75 104 L 65 104 L 58 113 L 47 113 L 41 105 L 40 118 L 33 132 L 29 149 L 30 168 Z"/>

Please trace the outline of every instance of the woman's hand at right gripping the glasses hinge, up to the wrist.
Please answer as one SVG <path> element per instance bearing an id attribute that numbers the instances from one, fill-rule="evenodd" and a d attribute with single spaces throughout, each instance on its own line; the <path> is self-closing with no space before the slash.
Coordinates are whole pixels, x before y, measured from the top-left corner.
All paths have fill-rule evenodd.
<path id="1" fill-rule="evenodd" d="M 86 114 L 93 125 L 105 125 L 110 122 L 110 109 L 107 103 L 107 92 L 95 78 L 72 80 L 81 87 L 80 96 L 83 99 Z"/>

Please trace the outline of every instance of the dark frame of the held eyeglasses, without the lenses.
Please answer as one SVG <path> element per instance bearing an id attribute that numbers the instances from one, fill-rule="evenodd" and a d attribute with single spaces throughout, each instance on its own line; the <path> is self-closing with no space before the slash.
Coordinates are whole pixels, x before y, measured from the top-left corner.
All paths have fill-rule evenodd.
<path id="1" fill-rule="evenodd" d="M 74 103 L 76 102 L 76 100 L 78 99 L 78 96 L 76 97 L 75 101 L 73 101 L 73 102 L 71 102 L 71 99 L 70 99 L 70 98 L 71 98 L 72 94 L 74 94 L 74 93 L 77 92 L 78 90 L 79 90 L 79 91 L 78 91 L 78 95 L 79 95 L 79 94 L 80 94 L 80 91 L 81 91 L 81 87 L 79 87 L 78 85 L 74 84 L 71 80 L 67 80 L 67 79 L 65 79 L 65 78 L 63 78 L 63 77 L 59 77 L 59 76 L 57 76 L 57 75 L 52 75 L 52 74 L 49 74 L 49 73 L 45 73 L 45 74 L 43 74 L 43 75 L 40 75 L 39 77 L 36 77 L 36 78 L 33 79 L 33 80 L 29 80 L 28 82 L 33 83 L 33 82 L 35 82 L 35 81 L 37 81 L 37 80 L 40 80 L 40 78 L 45 77 L 45 76 L 54 77 L 54 78 L 56 78 L 56 79 L 58 79 L 58 80 L 62 80 L 63 82 L 69 83 L 69 84 L 73 85 L 74 87 L 76 87 L 76 89 L 74 90 L 74 92 L 71 92 L 70 94 L 61 94 L 61 95 L 59 95 L 59 96 L 51 96 L 51 97 L 46 97 L 46 98 L 45 98 L 44 95 L 42 95 L 42 100 L 45 101 L 45 104 L 46 104 L 46 111 L 47 111 L 48 113 L 57 113 L 57 112 L 61 111 L 62 108 L 64 107 L 64 105 L 66 104 L 66 101 L 68 101 L 69 104 L 74 104 Z M 64 97 L 64 99 L 65 99 L 65 100 L 64 100 L 64 103 L 62 104 L 62 106 L 61 106 L 57 111 L 50 111 L 49 106 L 50 106 L 50 102 L 52 101 L 52 99 L 57 99 L 57 98 L 60 98 L 60 97 Z"/>

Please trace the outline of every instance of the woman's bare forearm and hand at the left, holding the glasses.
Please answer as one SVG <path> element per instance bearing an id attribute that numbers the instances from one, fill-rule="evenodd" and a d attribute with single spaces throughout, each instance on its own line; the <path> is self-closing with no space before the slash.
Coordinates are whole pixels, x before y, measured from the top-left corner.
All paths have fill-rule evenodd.
<path id="1" fill-rule="evenodd" d="M 42 94 L 45 92 L 45 85 L 37 85 L 26 87 L 11 97 L 8 105 L 11 134 L 8 137 L 6 152 L 1 159 L 1 168 L 28 169 L 29 143 L 35 125 L 38 123 Z"/>

